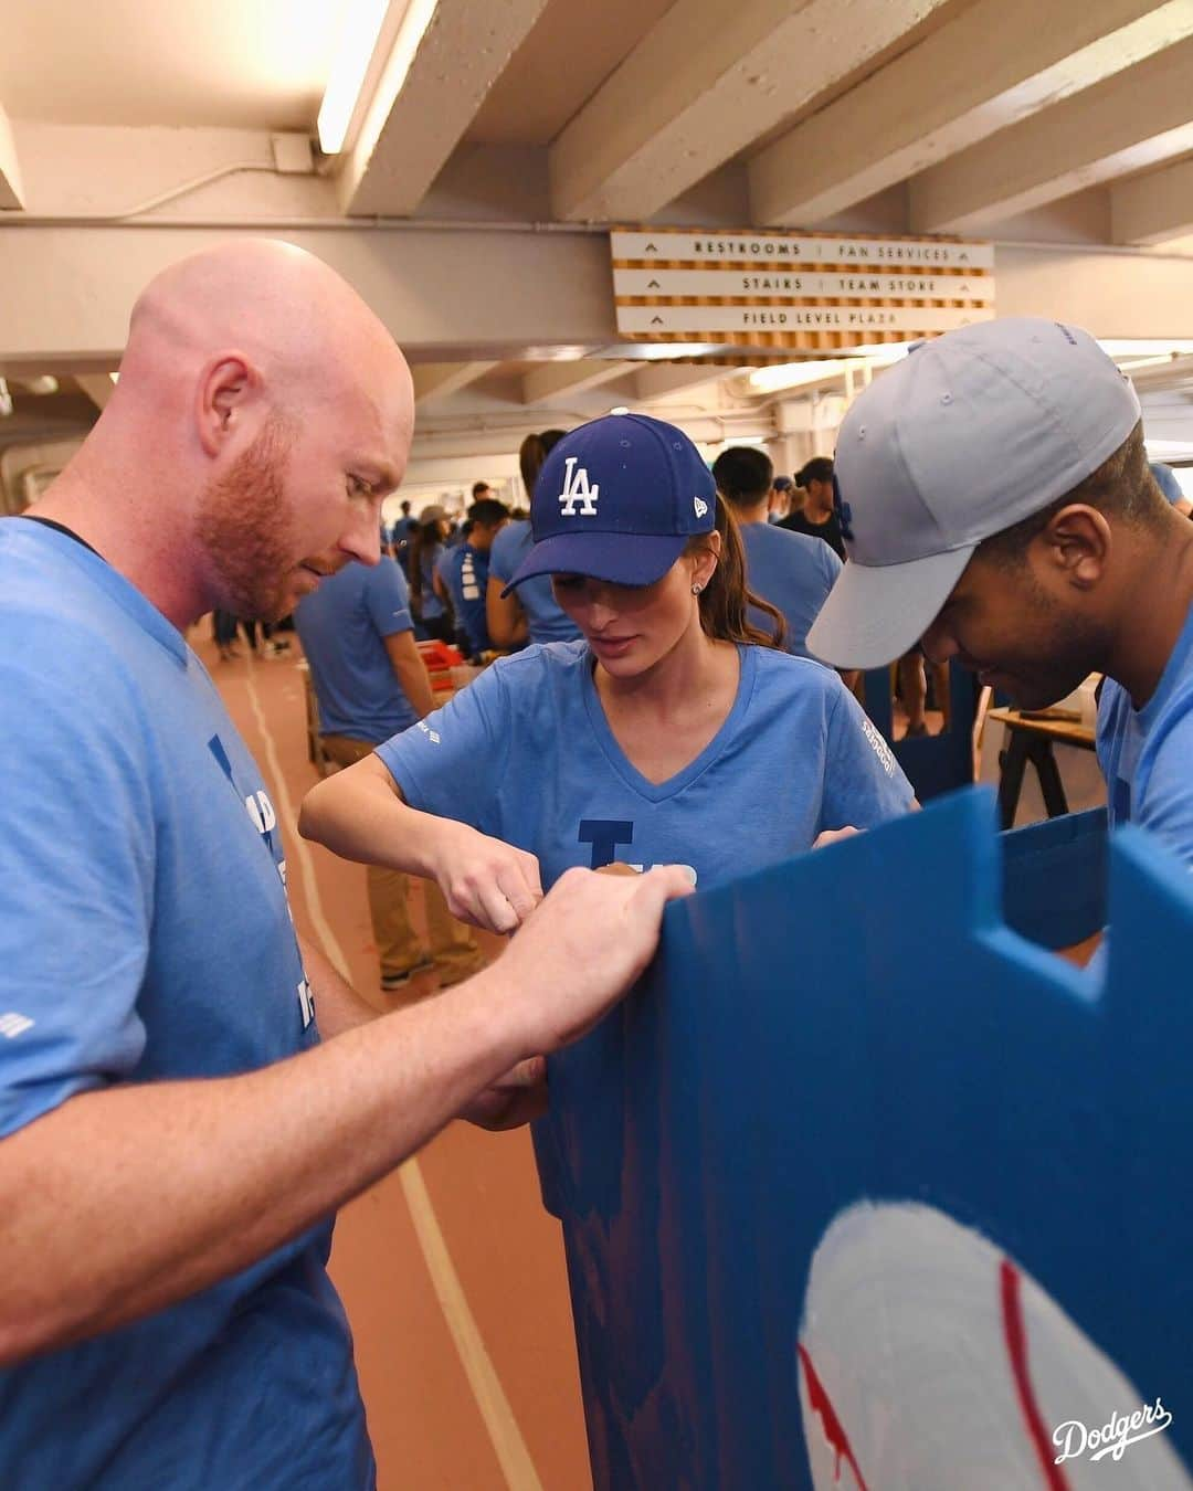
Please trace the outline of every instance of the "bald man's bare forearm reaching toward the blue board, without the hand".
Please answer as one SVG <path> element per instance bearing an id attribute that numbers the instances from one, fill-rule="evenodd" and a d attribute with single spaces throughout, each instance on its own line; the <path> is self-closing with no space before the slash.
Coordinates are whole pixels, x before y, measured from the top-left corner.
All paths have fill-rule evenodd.
<path id="1" fill-rule="evenodd" d="M 248 1267 L 529 1056 L 500 965 L 246 1077 L 84 1093 L 0 1141 L 0 1366 Z"/>

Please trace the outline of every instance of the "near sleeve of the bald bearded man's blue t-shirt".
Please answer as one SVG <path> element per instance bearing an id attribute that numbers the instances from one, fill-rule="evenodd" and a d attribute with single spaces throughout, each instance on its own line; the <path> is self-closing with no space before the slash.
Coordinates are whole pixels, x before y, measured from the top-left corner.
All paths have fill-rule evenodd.
<path id="1" fill-rule="evenodd" d="M 0 658 L 0 1136 L 136 1068 L 154 917 L 154 805 L 128 684 L 66 625 L 36 617 L 24 641 L 22 629 Z"/>

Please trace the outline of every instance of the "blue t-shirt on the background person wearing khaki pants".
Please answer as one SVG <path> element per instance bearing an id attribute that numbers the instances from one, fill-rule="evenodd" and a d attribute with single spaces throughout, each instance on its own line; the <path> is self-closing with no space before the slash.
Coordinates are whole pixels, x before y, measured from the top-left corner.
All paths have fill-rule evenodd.
<path id="1" fill-rule="evenodd" d="M 324 735 L 389 740 L 418 719 L 385 638 L 413 629 L 406 576 L 392 559 L 347 564 L 304 595 L 294 625 L 310 663 Z"/>

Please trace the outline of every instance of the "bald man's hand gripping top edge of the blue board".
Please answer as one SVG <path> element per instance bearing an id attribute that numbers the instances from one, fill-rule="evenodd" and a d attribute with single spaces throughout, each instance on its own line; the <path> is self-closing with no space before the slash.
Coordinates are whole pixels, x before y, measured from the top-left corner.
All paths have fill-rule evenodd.
<path id="1" fill-rule="evenodd" d="M 561 875 L 492 965 L 522 1005 L 523 1050 L 549 1054 L 592 1029 L 650 962 L 667 902 L 690 893 L 677 865 Z"/>

